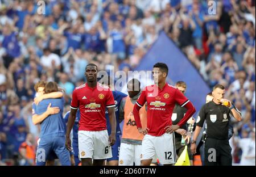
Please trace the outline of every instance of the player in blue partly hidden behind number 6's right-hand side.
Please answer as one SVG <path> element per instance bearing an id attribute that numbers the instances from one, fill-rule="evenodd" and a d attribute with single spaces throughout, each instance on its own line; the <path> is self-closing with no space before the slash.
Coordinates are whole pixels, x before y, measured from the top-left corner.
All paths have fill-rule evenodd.
<path id="1" fill-rule="evenodd" d="M 110 77 L 108 77 L 108 86 L 110 87 Z M 121 145 L 121 141 L 120 141 L 120 135 L 121 133 L 121 129 L 119 126 L 119 107 L 120 107 L 120 103 L 122 101 L 123 98 L 125 98 L 127 95 L 123 94 L 120 91 L 112 91 L 113 92 L 113 96 L 114 96 L 114 100 L 115 100 L 115 118 L 117 119 L 117 129 L 116 129 L 116 134 L 115 134 L 115 144 L 112 146 L 112 158 L 107 159 L 107 165 L 109 166 L 118 166 L 118 158 L 119 158 L 119 149 L 120 149 L 120 145 Z M 108 110 L 106 109 L 106 123 L 107 123 L 107 129 L 108 129 L 108 134 L 111 133 L 111 126 L 110 126 L 110 122 L 109 122 L 109 114 L 108 114 Z"/>

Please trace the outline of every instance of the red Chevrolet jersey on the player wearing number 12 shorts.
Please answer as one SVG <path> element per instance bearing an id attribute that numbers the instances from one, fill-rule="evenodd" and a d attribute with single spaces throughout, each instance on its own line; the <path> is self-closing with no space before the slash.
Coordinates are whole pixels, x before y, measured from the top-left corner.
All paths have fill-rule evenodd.
<path id="1" fill-rule="evenodd" d="M 171 115 L 175 103 L 183 107 L 189 100 L 176 87 L 166 83 L 162 90 L 156 85 L 147 86 L 136 103 L 142 107 L 146 102 L 148 134 L 161 136 L 166 132 L 164 128 L 172 125 Z"/>

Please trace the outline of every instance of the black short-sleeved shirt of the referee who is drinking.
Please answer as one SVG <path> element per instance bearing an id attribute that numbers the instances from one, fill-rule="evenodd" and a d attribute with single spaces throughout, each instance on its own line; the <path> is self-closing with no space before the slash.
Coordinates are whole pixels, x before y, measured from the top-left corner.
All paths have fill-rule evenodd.
<path id="1" fill-rule="evenodd" d="M 204 121 L 207 123 L 207 137 L 218 140 L 228 140 L 228 129 L 230 120 L 230 109 L 222 104 L 213 101 L 200 109 L 196 125 L 203 127 Z"/>

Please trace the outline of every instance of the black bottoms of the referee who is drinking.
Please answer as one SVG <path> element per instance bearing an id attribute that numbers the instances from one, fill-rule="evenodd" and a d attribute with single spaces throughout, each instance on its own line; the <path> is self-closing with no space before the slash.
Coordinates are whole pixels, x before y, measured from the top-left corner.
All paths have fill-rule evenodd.
<path id="1" fill-rule="evenodd" d="M 205 166 L 232 166 L 232 155 L 229 140 L 207 138 L 205 140 Z"/>

